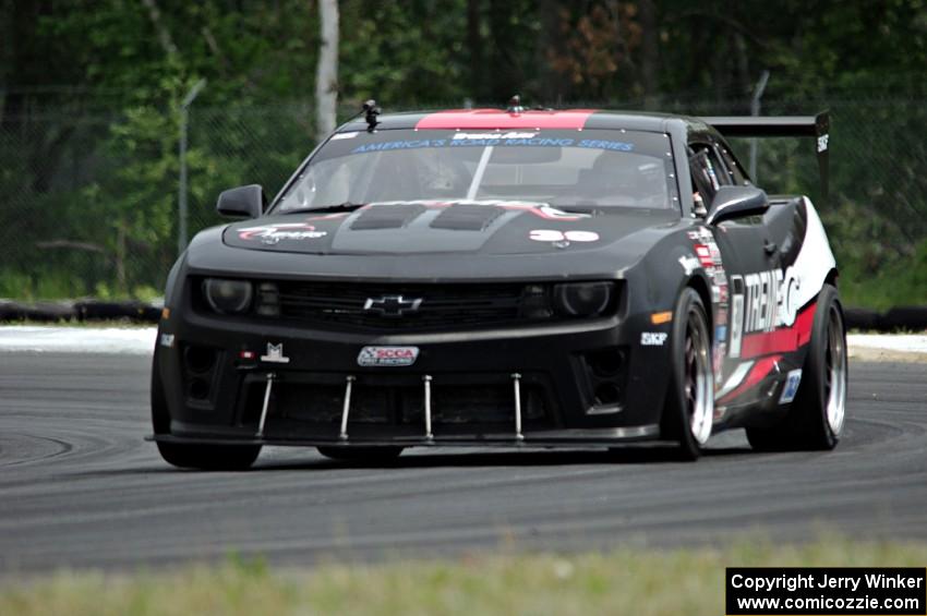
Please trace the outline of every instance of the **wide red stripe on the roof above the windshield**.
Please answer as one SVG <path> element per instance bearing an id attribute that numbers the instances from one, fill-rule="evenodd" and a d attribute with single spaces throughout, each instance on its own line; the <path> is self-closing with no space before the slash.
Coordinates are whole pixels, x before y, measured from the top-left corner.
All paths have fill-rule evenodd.
<path id="1" fill-rule="evenodd" d="M 416 124 L 419 129 L 510 130 L 510 129 L 581 129 L 594 109 L 568 111 L 525 111 L 509 113 L 498 109 L 457 109 L 425 116 Z"/>

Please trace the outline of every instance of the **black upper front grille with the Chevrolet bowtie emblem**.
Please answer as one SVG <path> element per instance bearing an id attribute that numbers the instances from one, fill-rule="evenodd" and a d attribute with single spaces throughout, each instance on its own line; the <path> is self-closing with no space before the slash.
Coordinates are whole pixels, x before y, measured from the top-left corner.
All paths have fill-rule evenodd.
<path id="1" fill-rule="evenodd" d="M 280 282 L 280 318 L 404 330 L 519 321 L 525 285 Z"/>

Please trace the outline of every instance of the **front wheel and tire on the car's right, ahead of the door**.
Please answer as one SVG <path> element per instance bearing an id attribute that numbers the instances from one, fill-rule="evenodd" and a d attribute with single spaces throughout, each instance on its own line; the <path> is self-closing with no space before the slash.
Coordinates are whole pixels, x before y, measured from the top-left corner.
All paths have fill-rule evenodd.
<path id="1" fill-rule="evenodd" d="M 664 438 L 678 442 L 676 458 L 696 460 L 711 436 L 714 369 L 705 303 L 693 288 L 676 301 L 671 337 L 670 388 L 660 422 Z"/>

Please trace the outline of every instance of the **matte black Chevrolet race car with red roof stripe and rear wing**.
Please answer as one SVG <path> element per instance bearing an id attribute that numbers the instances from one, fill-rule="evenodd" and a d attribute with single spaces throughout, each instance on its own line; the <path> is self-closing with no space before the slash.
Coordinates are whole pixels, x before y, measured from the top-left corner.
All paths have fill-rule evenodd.
<path id="1" fill-rule="evenodd" d="M 224 192 L 246 220 L 171 269 L 152 438 L 193 468 L 245 468 L 263 445 L 663 440 L 694 459 L 738 426 L 758 449 L 830 449 L 847 369 L 827 235 L 724 140 L 812 136 L 823 172 L 827 130 L 368 105 L 269 205 Z"/>

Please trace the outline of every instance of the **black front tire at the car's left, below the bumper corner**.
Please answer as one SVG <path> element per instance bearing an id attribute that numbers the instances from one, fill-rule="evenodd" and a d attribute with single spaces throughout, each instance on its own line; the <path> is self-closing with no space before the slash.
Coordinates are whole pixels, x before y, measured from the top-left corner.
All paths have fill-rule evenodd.
<path id="1" fill-rule="evenodd" d="M 170 434 L 170 415 L 158 373 L 157 351 L 152 364 L 152 426 L 156 436 Z M 195 445 L 158 442 L 157 446 L 161 458 L 169 464 L 182 469 L 209 471 L 248 469 L 261 454 L 261 445 Z"/>

